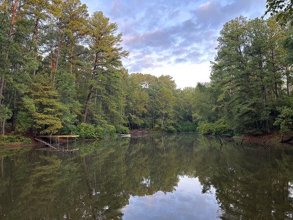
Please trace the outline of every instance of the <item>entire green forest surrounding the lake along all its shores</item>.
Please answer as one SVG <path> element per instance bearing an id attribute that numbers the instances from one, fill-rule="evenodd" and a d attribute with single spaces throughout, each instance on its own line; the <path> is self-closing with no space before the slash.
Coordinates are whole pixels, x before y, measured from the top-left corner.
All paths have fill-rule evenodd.
<path id="1" fill-rule="evenodd" d="M 129 74 L 121 43 L 80 0 L 0 0 L 0 134 L 293 130 L 293 27 L 275 17 L 224 24 L 211 81 L 195 88 Z"/>

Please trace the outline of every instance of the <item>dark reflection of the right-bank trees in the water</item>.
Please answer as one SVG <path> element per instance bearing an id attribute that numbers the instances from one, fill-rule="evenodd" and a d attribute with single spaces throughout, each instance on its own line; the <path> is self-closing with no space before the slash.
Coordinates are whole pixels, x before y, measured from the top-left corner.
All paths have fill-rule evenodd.
<path id="1" fill-rule="evenodd" d="M 289 219 L 288 213 L 293 211 L 288 191 L 293 179 L 291 155 L 264 148 L 227 147 L 223 153 L 213 148 L 195 161 L 203 192 L 211 186 L 216 190 L 224 210 L 221 219 Z"/>

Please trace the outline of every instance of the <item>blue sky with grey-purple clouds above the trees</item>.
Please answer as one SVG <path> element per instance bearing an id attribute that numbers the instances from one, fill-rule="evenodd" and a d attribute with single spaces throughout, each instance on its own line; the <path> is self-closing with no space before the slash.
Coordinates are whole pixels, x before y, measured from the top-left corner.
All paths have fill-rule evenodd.
<path id="1" fill-rule="evenodd" d="M 123 33 L 128 73 L 171 75 L 178 88 L 207 82 L 223 24 L 261 17 L 266 0 L 81 0 Z"/>

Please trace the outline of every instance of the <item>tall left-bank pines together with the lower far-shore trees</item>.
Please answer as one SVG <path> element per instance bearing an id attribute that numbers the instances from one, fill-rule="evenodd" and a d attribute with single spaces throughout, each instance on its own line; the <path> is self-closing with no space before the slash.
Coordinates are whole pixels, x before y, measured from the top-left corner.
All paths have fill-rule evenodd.
<path id="1" fill-rule="evenodd" d="M 121 42 L 80 0 L 0 0 L 0 133 L 89 138 L 191 122 L 170 76 L 127 73 Z"/>

